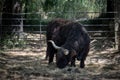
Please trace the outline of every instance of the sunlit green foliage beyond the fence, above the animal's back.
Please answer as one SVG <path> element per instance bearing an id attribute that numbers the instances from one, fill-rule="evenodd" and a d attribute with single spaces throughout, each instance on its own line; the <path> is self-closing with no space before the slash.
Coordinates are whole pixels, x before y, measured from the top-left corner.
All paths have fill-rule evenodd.
<path id="1" fill-rule="evenodd" d="M 53 18 L 66 18 L 72 20 L 80 18 L 91 19 L 98 17 L 100 14 L 80 12 L 106 11 L 106 3 L 107 0 L 22 0 L 22 11 L 32 13 L 24 17 L 33 19 L 26 20 L 24 24 L 39 25 L 42 24 L 41 21 L 49 21 Z M 29 29 L 38 30 L 39 26 L 30 26 Z"/>

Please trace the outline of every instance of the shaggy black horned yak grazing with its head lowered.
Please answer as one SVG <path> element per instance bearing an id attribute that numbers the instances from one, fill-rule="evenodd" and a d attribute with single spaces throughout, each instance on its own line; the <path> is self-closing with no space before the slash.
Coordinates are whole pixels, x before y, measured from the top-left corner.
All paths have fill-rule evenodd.
<path id="1" fill-rule="evenodd" d="M 80 61 L 80 68 L 84 68 L 90 37 L 82 24 L 64 19 L 52 20 L 47 26 L 46 38 L 46 59 L 49 58 L 49 64 L 53 62 L 56 54 L 58 68 L 64 68 L 69 63 L 76 66 L 76 59 Z"/>

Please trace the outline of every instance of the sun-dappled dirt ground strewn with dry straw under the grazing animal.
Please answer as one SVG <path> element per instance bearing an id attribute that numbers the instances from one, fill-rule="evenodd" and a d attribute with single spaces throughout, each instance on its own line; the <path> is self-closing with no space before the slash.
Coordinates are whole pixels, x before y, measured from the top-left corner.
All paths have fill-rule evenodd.
<path id="1" fill-rule="evenodd" d="M 120 53 L 114 49 L 89 52 L 86 67 L 59 69 L 45 60 L 45 47 L 0 52 L 0 80 L 120 80 Z"/>

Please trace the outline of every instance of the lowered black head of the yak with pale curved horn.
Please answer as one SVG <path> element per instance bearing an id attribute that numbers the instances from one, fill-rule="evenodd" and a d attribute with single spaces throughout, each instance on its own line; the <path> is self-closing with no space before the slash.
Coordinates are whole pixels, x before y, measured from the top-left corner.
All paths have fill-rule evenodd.
<path id="1" fill-rule="evenodd" d="M 68 65 L 69 63 L 69 50 L 57 46 L 54 41 L 49 40 L 49 42 L 52 43 L 53 47 L 57 50 L 56 53 L 56 65 L 59 68 L 64 68 Z"/>

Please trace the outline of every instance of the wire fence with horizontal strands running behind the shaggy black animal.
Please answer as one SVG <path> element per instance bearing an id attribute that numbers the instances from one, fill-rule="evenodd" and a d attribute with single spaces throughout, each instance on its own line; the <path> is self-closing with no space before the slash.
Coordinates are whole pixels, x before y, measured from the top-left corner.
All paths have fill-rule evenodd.
<path id="1" fill-rule="evenodd" d="M 4 14 L 4 13 L 2 13 Z M 7 15 L 20 15 L 20 17 L 12 18 L 0 18 L 1 34 L 9 32 L 9 29 L 5 30 L 2 27 L 14 27 L 14 36 L 7 38 L 3 43 L 5 43 L 4 48 L 15 49 L 20 48 L 37 48 L 41 49 L 46 46 L 46 26 L 49 21 L 55 18 L 63 18 L 60 16 L 55 16 L 56 12 L 49 12 L 43 15 L 40 12 L 36 13 L 6 13 Z M 91 43 L 99 50 L 105 48 L 115 48 L 117 43 L 117 34 L 115 20 L 117 18 L 113 17 L 99 17 L 100 15 L 114 14 L 117 12 L 66 12 L 65 19 L 80 22 L 88 30 L 91 37 Z M 65 15 L 64 14 L 64 15 Z M 67 16 L 69 14 L 70 16 Z M 62 13 L 60 13 L 62 15 Z M 12 24 L 2 24 L 3 22 L 13 22 Z M 14 23 L 16 21 L 16 23 Z M 1 42 L 1 44 L 2 44 Z"/>

